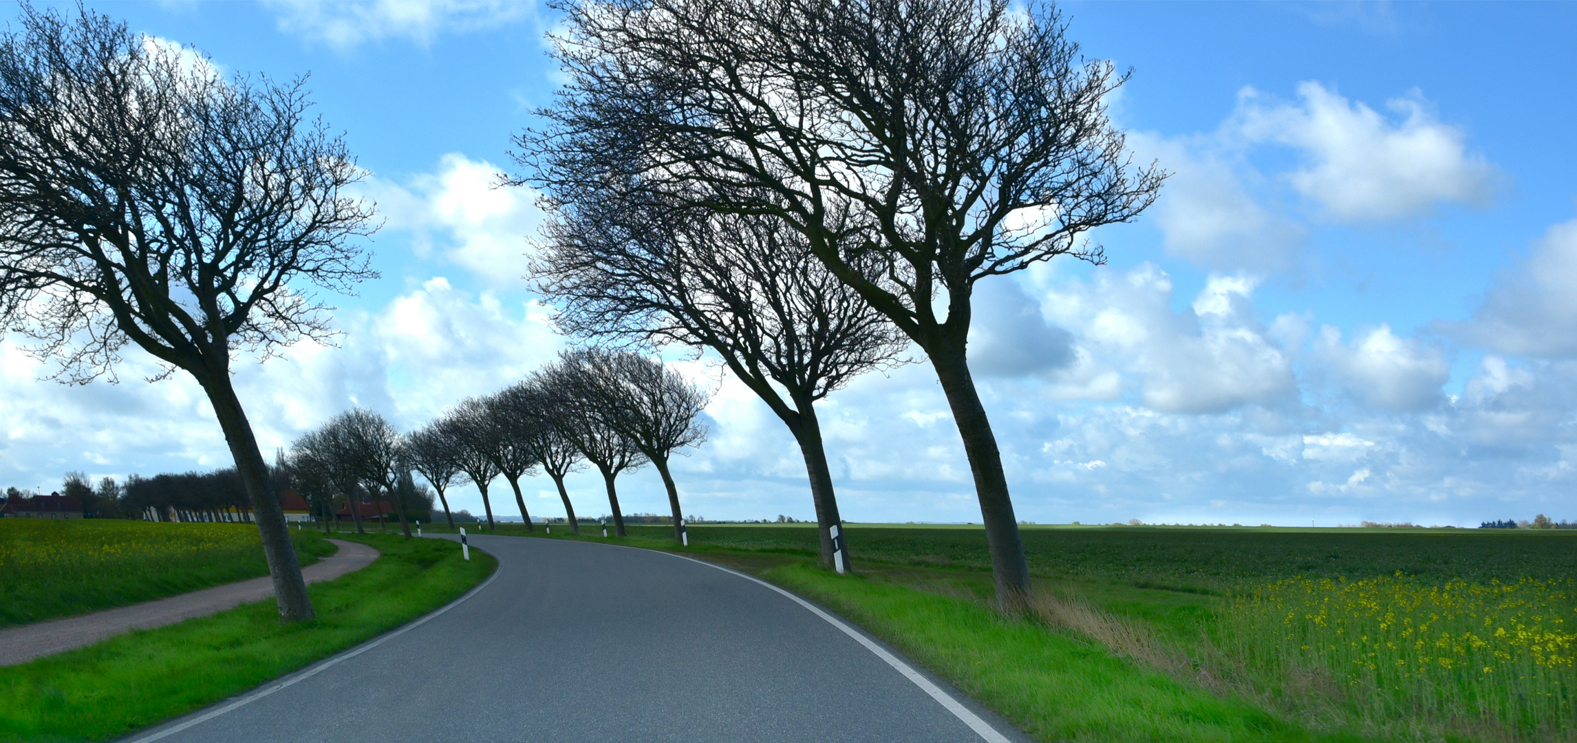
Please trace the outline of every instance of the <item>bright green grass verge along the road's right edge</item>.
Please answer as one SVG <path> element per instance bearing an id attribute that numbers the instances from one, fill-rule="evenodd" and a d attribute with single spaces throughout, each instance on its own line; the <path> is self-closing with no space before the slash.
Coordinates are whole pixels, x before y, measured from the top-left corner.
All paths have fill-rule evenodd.
<path id="1" fill-rule="evenodd" d="M 1039 622 L 1003 618 L 968 598 L 809 565 L 771 568 L 763 577 L 858 622 L 1041 740 L 1363 740 L 1310 734 L 1244 700 L 1191 688 Z"/>

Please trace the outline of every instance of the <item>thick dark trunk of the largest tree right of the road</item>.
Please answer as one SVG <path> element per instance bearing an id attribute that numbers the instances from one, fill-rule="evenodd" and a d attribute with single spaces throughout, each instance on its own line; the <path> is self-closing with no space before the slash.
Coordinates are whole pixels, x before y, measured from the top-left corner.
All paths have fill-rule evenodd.
<path id="1" fill-rule="evenodd" d="M 1008 495 L 1008 476 L 1001 470 L 1001 451 L 997 435 L 990 431 L 986 407 L 981 405 L 975 379 L 970 375 L 964 342 L 949 344 L 954 349 L 940 353 L 929 352 L 937 380 L 948 396 L 953 421 L 964 439 L 964 453 L 975 473 L 975 495 L 981 503 L 981 524 L 986 525 L 986 546 L 990 549 L 992 579 L 997 584 L 997 607 L 1003 612 L 1022 612 L 1030 603 L 1030 563 L 1023 557 L 1023 540 L 1019 536 L 1019 521 L 1012 514 L 1012 498 Z"/>

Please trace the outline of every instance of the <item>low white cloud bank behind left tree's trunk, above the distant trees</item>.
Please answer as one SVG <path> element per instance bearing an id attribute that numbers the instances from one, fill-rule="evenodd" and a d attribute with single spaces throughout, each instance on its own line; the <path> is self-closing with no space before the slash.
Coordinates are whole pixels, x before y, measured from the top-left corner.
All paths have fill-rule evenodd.
<path id="1" fill-rule="evenodd" d="M 410 429 L 552 358 L 558 338 L 527 312 L 435 278 L 375 312 L 342 312 L 339 347 L 303 341 L 268 363 L 237 358 L 237 394 L 265 454 L 352 405 Z M 46 366 L 0 344 L 0 420 L 8 421 L 0 480 L 33 487 L 79 467 L 123 476 L 230 465 L 196 382 L 183 372 L 142 382 L 153 369 L 150 357 L 131 350 L 125 383 L 65 386 L 36 379 Z"/>

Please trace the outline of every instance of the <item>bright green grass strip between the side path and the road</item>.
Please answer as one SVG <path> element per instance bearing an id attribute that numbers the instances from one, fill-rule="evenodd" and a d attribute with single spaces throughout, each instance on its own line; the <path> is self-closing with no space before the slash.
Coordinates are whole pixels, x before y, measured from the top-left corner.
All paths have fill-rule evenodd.
<path id="1" fill-rule="evenodd" d="M 270 598 L 0 669 L 0 741 L 109 740 L 186 715 L 412 622 L 497 566 L 451 541 L 336 536 L 383 555 L 308 587 L 314 622 L 279 625 Z"/>

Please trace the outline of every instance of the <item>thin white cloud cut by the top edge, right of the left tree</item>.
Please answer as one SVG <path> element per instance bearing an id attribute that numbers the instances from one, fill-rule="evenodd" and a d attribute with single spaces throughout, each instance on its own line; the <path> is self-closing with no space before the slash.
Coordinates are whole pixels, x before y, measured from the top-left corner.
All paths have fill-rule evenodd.
<path id="1" fill-rule="evenodd" d="M 503 25 L 535 11 L 511 0 L 265 0 L 281 32 L 350 49 L 367 41 L 404 38 L 431 44 L 440 33 Z"/>

